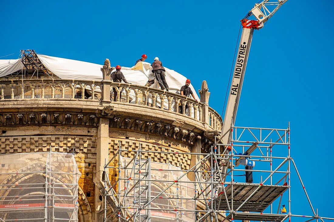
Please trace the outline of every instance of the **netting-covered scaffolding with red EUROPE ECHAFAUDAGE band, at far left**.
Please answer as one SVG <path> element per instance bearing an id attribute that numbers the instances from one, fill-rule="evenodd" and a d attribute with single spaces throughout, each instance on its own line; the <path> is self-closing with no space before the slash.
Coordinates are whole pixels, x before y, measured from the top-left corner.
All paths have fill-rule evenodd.
<path id="1" fill-rule="evenodd" d="M 0 221 L 78 221 L 78 171 L 71 153 L 0 155 Z"/>

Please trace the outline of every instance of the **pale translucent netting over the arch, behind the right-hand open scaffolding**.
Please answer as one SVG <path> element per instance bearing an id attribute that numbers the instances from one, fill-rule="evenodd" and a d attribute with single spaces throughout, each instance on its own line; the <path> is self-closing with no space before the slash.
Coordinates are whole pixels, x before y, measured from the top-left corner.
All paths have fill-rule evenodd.
<path id="1" fill-rule="evenodd" d="M 194 185 L 181 177 L 181 168 L 148 159 L 121 159 L 120 203 L 126 217 L 141 218 L 139 221 L 150 217 L 151 222 L 195 221 Z"/>

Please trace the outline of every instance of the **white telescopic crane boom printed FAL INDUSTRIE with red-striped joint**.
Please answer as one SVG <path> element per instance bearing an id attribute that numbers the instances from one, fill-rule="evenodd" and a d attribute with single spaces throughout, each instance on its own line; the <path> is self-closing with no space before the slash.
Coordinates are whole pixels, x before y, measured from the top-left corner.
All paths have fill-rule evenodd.
<path id="1" fill-rule="evenodd" d="M 223 120 L 223 127 L 220 139 L 222 144 L 229 144 L 231 141 L 231 124 L 235 121 L 236 112 L 238 109 L 241 87 L 243 77 L 245 74 L 249 48 L 251 47 L 253 31 L 254 29 L 260 29 L 264 26 L 264 23 L 274 15 L 274 13 L 286 2 L 287 0 L 265 0 L 261 3 L 255 4 L 254 8 L 247 13 L 245 18 L 241 21 L 242 33 L 240 37 L 240 43 L 238 51 L 236 53 L 235 65 L 233 69 L 233 78 L 228 94 L 227 105 Z M 249 16 L 255 16 L 257 20 L 248 20 Z M 219 140 L 219 141 L 220 141 Z M 219 143 L 219 141 L 217 143 Z"/>

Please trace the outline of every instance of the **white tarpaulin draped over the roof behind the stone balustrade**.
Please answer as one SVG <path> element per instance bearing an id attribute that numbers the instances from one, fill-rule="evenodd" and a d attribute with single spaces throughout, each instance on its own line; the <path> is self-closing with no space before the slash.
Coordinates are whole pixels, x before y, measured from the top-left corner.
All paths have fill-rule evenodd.
<path id="1" fill-rule="evenodd" d="M 40 54 L 37 56 L 47 69 L 61 79 L 101 81 L 103 78 L 101 72 L 103 65 Z M 21 59 L 0 60 L 0 77 L 14 73 L 22 68 L 24 69 L 20 60 Z M 166 67 L 165 70 L 169 91 L 179 93 L 181 86 L 185 84 L 187 78 Z M 138 62 L 133 67 L 122 67 L 121 71 L 128 82 L 136 85 L 145 86 L 149 79 L 154 79 L 151 64 L 147 62 Z M 159 85 L 154 83 L 151 88 L 159 88 Z M 193 91 L 195 98 L 199 100 L 199 97 L 191 84 L 190 88 Z"/>

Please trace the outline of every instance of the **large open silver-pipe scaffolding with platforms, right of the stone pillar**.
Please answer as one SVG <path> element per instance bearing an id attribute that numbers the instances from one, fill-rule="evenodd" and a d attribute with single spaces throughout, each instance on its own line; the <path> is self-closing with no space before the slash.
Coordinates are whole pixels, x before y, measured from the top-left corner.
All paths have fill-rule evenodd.
<path id="1" fill-rule="evenodd" d="M 289 126 L 287 129 L 231 126 L 223 136 L 228 134 L 230 144 L 219 144 L 221 138 L 216 138 L 207 153 L 148 151 L 141 146 L 130 150 L 122 148 L 120 143 L 116 154 L 106 160 L 105 171 L 115 170 L 118 176 L 113 182 L 104 177 L 104 221 L 118 218 L 119 222 L 283 222 L 293 216 L 306 217 L 308 221 L 333 219 L 320 217 L 312 207 L 290 156 Z M 133 158 L 124 158 L 125 152 L 131 152 Z M 191 154 L 196 161 L 189 169 L 181 169 L 142 159 L 157 154 Z M 291 167 L 297 172 L 312 216 L 291 213 Z"/>

